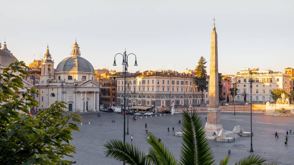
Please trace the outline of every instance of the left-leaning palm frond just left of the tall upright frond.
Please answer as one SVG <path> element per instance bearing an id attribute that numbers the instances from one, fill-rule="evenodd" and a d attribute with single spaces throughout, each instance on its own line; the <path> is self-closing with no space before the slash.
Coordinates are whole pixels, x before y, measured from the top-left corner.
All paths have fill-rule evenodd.
<path id="1" fill-rule="evenodd" d="M 165 147 L 163 142 L 158 143 L 156 137 L 151 134 L 147 135 L 146 141 L 153 147 L 154 151 L 157 154 L 158 161 L 162 165 L 177 165 L 177 159 L 171 154 L 168 150 L 168 147 Z"/>

